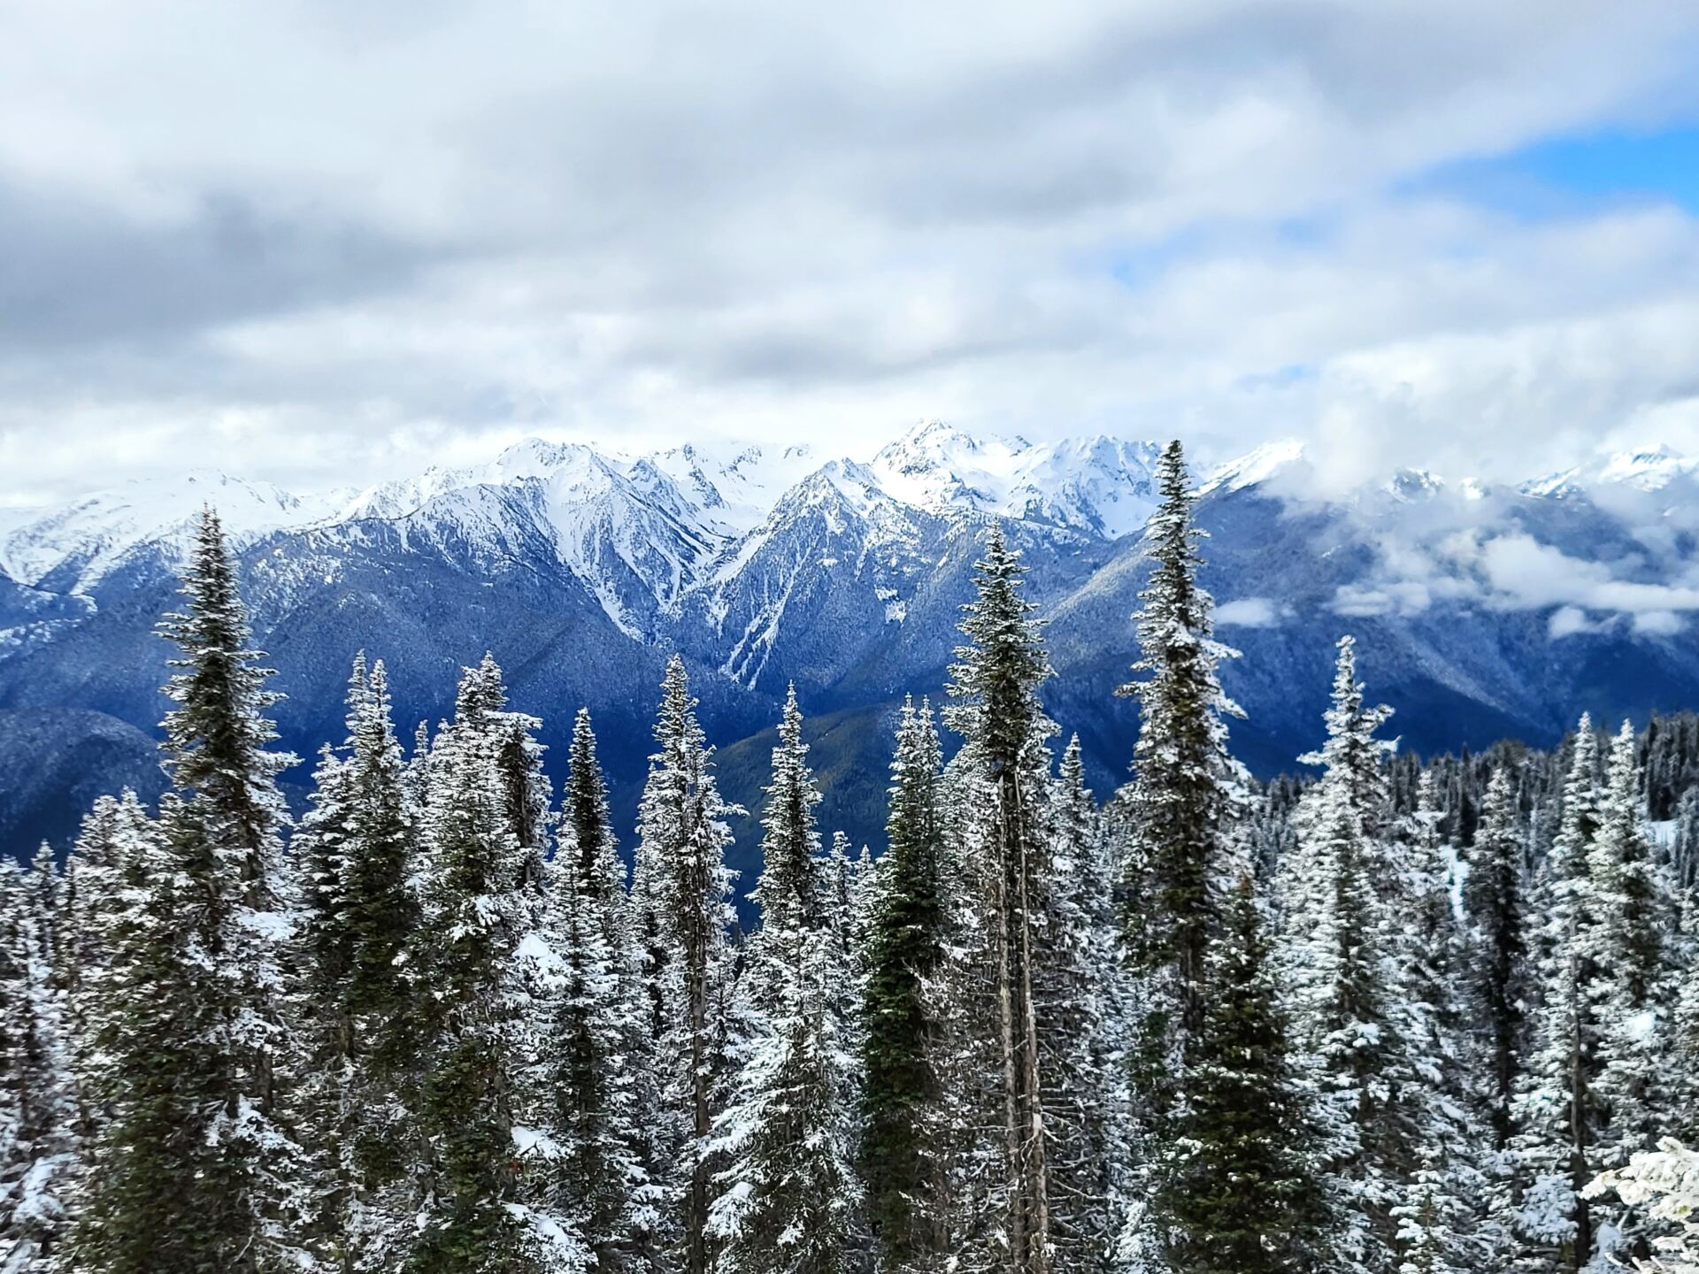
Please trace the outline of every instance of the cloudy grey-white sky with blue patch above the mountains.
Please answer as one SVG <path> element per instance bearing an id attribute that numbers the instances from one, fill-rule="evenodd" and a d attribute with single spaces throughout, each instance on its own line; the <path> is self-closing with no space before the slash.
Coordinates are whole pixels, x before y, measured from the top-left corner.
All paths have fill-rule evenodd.
<path id="1" fill-rule="evenodd" d="M 0 0 L 0 505 L 539 433 L 1699 450 L 1699 7 Z"/>

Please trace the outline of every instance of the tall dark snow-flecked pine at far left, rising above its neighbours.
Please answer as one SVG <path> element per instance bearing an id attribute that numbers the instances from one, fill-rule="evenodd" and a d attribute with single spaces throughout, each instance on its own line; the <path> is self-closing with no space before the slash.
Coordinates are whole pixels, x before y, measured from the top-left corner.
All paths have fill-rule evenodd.
<path id="1" fill-rule="evenodd" d="M 114 1114 L 75 1259 L 104 1274 L 301 1269 L 311 1179 L 287 1125 L 294 904 L 275 785 L 294 758 L 267 751 L 279 696 L 211 510 L 183 596 L 161 627 L 182 651 L 165 719 L 175 792 L 122 907 L 141 941 L 117 973 L 126 1011 L 105 1024 Z"/>

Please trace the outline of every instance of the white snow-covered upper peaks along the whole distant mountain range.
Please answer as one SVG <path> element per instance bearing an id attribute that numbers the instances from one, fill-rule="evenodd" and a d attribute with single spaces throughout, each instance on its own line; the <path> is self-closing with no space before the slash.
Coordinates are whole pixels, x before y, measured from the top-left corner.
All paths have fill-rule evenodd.
<path id="1" fill-rule="evenodd" d="M 1155 506 L 1159 454 L 1154 442 L 1031 443 L 921 421 L 868 464 L 822 460 L 805 443 L 688 443 L 630 457 L 527 438 L 483 465 L 433 467 L 357 493 L 296 496 L 267 482 L 190 472 L 127 482 L 51 510 L 7 511 L 0 572 L 25 588 L 88 596 L 124 567 L 173 567 L 206 503 L 217 506 L 238 549 L 306 528 L 352 533 L 377 520 L 411 545 L 479 561 L 545 544 L 613 623 L 639 640 L 654 639 L 668 618 L 681 615 L 686 598 L 700 603 L 693 613 L 715 630 L 737 615 L 749 632 L 729 669 L 748 669 L 782 615 L 783 579 L 836 566 L 865 572 L 878 562 L 878 600 L 887 622 L 900 623 L 912 576 L 902 564 L 917 544 L 917 520 L 1002 516 L 1058 544 L 1118 540 L 1137 533 Z M 1307 465 L 1301 442 L 1278 440 L 1208 472 L 1199 491 L 1245 491 L 1301 476 Z M 1607 488 L 1660 493 L 1696 471 L 1696 459 L 1643 448 L 1516 491 L 1534 499 Z M 1488 488 L 1398 471 L 1364 491 L 1373 493 L 1415 505 L 1439 493 L 1478 499 Z M 827 540 L 834 547 L 819 549 Z M 810 561 L 799 545 L 816 545 L 824 555 Z M 746 579 L 748 572 L 754 574 Z"/>

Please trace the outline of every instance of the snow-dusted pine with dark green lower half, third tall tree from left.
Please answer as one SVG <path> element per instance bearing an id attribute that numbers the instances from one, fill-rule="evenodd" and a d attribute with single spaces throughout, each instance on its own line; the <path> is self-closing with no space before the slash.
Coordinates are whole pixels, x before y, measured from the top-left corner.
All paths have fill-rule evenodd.
<path id="1" fill-rule="evenodd" d="M 430 997 L 416 1099 L 428 1186 L 406 1262 L 418 1274 L 530 1274 L 588 1260 L 576 1235 L 527 1208 L 520 1181 L 516 1085 L 535 1019 L 520 953 L 533 938 L 533 904 L 501 698 L 491 661 L 467 669 L 454 725 L 432 749 L 420 936 Z"/>

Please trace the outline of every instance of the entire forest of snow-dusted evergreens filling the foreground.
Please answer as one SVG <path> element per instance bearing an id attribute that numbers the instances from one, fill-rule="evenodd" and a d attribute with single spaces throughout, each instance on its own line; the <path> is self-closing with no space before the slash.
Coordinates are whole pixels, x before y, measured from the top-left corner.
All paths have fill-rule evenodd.
<path id="1" fill-rule="evenodd" d="M 488 657 L 409 749 L 358 659 L 292 824 L 207 513 L 163 627 L 172 792 L 102 798 L 63 871 L 0 870 L 0 1269 L 1680 1259 L 1699 820 L 1646 819 L 1694 809 L 1680 732 L 1422 766 L 1347 637 L 1318 776 L 1257 785 L 1177 443 L 1160 481 L 1132 781 L 1099 803 L 1057 756 L 992 527 L 943 730 L 900 712 L 877 861 L 822 839 L 787 700 L 748 936 L 680 659 L 630 871 L 588 713 L 556 802 Z"/>

